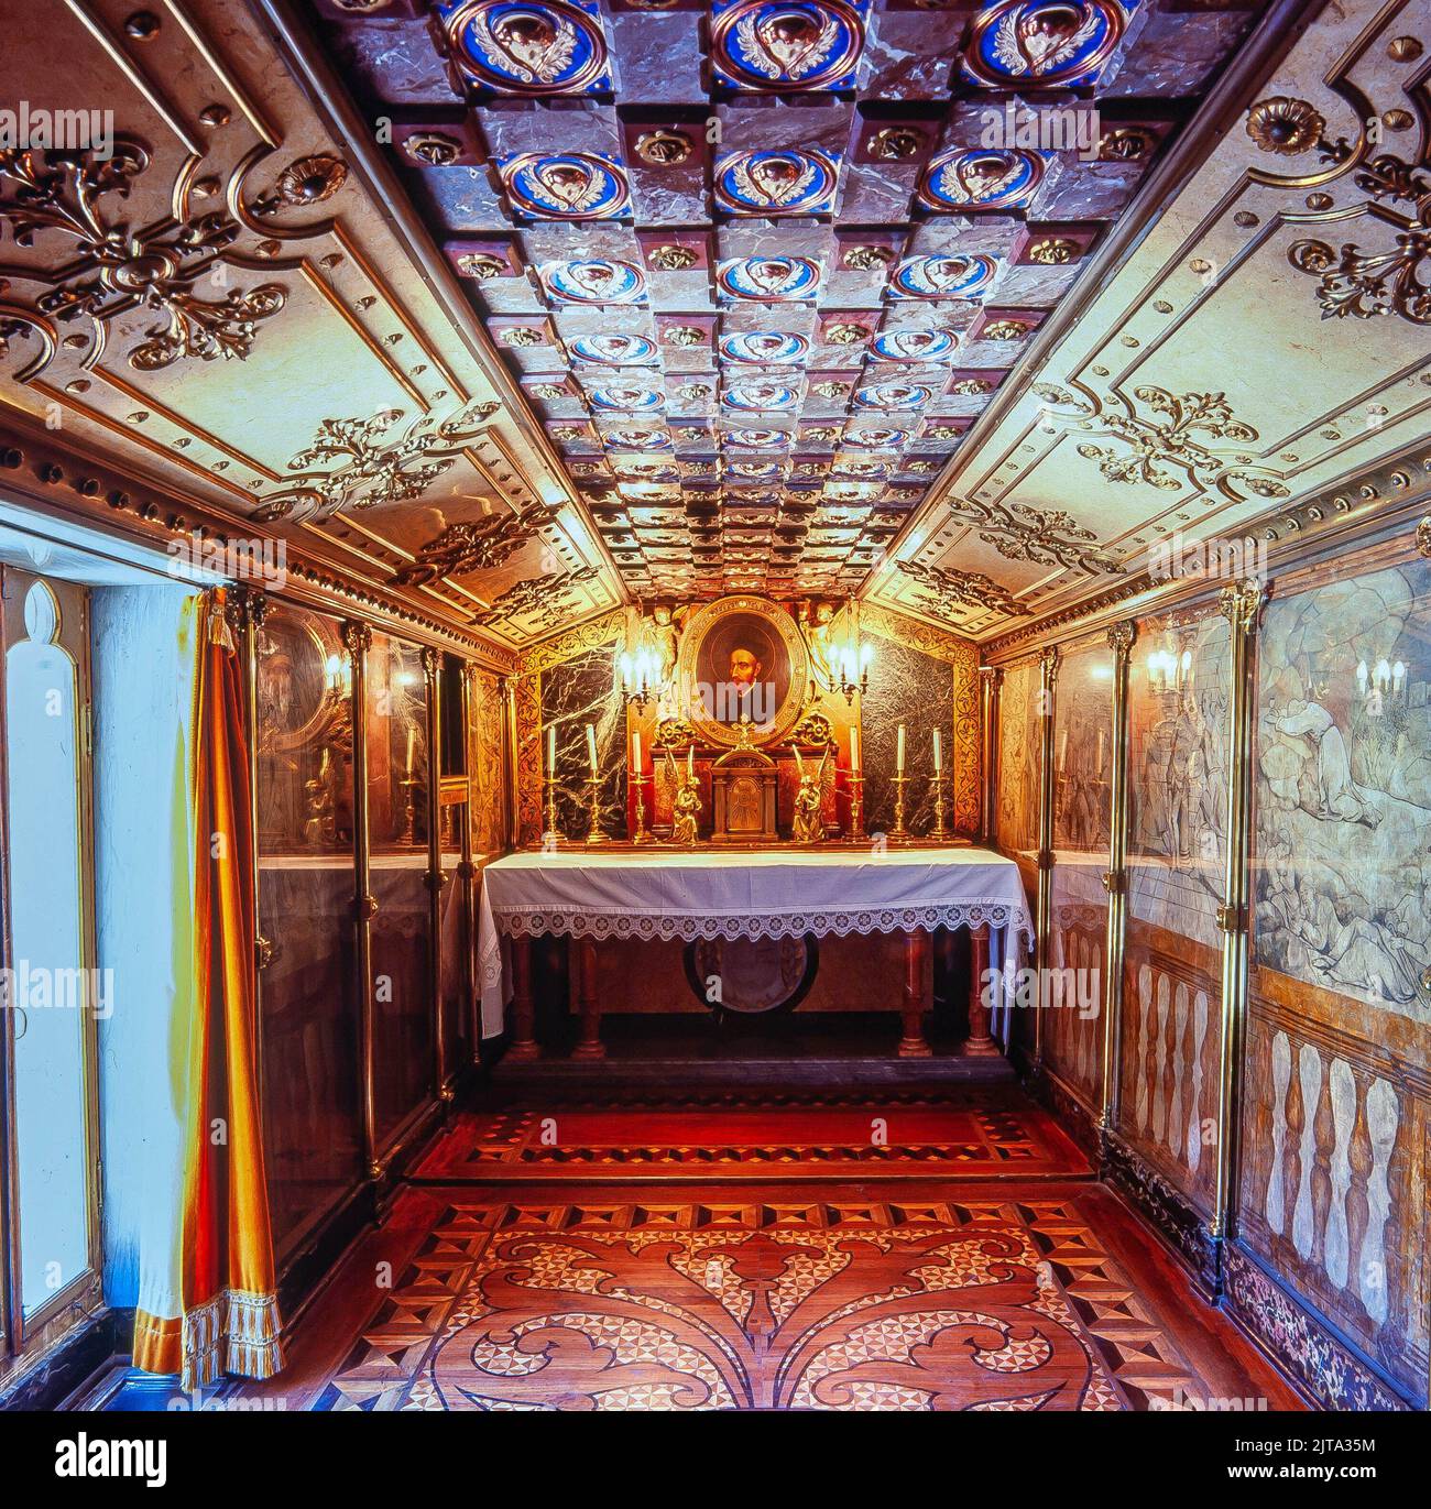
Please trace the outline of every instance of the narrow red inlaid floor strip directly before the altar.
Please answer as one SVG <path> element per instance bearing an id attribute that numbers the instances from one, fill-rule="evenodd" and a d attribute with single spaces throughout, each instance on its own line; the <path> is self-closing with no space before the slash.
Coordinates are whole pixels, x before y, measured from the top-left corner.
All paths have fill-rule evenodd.
<path id="1" fill-rule="evenodd" d="M 463 1115 L 418 1177 L 542 1183 L 632 1177 L 1049 1179 L 1087 1174 L 1054 1120 L 998 1089 L 779 1099 L 703 1096 L 593 1106 L 522 1099 Z"/>

